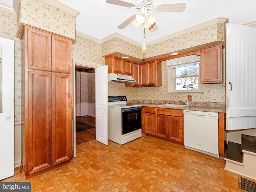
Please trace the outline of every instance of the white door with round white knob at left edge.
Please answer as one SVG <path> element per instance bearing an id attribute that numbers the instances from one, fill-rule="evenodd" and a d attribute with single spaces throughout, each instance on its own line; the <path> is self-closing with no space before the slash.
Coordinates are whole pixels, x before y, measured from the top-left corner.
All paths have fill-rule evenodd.
<path id="1" fill-rule="evenodd" d="M 14 175 L 14 41 L 0 38 L 0 180 Z"/>

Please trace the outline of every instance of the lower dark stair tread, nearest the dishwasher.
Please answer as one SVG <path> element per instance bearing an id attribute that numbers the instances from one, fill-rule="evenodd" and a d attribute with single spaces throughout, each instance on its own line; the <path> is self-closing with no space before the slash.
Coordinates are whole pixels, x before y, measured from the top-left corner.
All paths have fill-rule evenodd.
<path id="1" fill-rule="evenodd" d="M 243 163 L 242 145 L 229 141 L 224 158 Z"/>

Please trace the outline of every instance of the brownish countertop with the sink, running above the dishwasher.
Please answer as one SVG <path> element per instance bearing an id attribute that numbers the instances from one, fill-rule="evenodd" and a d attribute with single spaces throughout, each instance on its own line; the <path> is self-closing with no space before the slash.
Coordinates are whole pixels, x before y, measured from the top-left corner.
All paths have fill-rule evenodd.
<path id="1" fill-rule="evenodd" d="M 157 104 L 157 103 L 138 103 L 138 102 L 133 103 L 133 104 L 140 104 L 143 107 L 158 107 L 158 108 L 170 108 L 170 109 L 226 113 L 226 108 L 224 108 L 224 107 L 209 107 L 209 106 L 170 107 L 170 106 L 160 106 L 161 104 Z"/>

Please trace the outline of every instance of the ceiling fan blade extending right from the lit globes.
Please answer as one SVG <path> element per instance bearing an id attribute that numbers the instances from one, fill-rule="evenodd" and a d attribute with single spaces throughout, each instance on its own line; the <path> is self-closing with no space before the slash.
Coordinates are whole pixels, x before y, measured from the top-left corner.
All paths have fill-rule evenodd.
<path id="1" fill-rule="evenodd" d="M 153 7 L 154 12 L 183 12 L 186 8 L 186 3 L 176 3 L 176 4 L 165 4 L 156 5 Z"/>

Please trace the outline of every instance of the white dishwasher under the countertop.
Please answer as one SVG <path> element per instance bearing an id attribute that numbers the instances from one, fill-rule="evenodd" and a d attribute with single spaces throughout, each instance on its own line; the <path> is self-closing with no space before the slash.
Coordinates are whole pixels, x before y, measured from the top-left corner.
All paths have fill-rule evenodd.
<path id="1" fill-rule="evenodd" d="M 217 112 L 183 110 L 184 146 L 214 157 L 219 157 Z"/>

